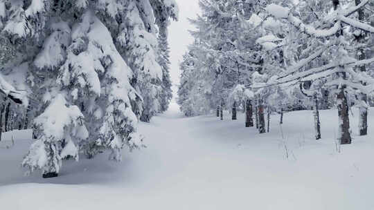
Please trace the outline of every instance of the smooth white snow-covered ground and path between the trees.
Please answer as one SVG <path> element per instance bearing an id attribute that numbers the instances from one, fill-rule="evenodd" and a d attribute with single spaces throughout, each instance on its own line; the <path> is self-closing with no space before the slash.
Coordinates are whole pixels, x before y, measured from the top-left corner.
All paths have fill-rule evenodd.
<path id="1" fill-rule="evenodd" d="M 272 115 L 270 133 L 260 135 L 244 128 L 242 114 L 234 122 L 229 113 L 223 122 L 213 115 L 186 118 L 173 105 L 141 124 L 148 148 L 125 153 L 120 163 L 104 154 L 65 162 L 51 179 L 23 175 L 30 140 L 17 139 L 0 148 L 0 207 L 374 209 L 374 109 L 366 137 L 357 136 L 354 113 L 353 144 L 339 149 L 336 110 L 321 111 L 322 140 L 316 141 L 311 111 L 286 113 L 282 129 Z"/>

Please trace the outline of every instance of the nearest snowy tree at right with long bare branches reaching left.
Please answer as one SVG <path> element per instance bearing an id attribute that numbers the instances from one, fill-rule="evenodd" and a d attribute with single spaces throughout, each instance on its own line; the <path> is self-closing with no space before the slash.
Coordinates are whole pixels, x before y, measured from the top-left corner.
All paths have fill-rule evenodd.
<path id="1" fill-rule="evenodd" d="M 276 4 L 267 6 L 266 10 L 277 19 L 283 19 L 292 24 L 295 28 L 308 35 L 308 39 L 317 39 L 319 45 L 314 46 L 314 52 L 309 57 L 299 61 L 278 77 L 278 84 L 292 82 L 315 81 L 328 78 L 324 86 L 337 94 L 337 107 L 339 111 L 339 136 L 341 144 L 350 144 L 350 127 L 348 117 L 348 94 L 358 90 L 361 93 L 370 93 L 373 79 L 368 77 L 364 71 L 357 70 L 355 66 L 370 64 L 373 59 L 355 59 L 350 53 L 352 49 L 350 36 L 357 34 L 357 30 L 374 32 L 374 28 L 362 21 L 355 20 L 349 16 L 355 14 L 364 7 L 368 1 L 347 5 L 343 1 L 332 1 L 333 10 L 320 17 L 317 23 L 306 24 L 301 19 L 294 16 L 292 10 Z M 348 28 L 344 30 L 343 26 Z M 323 26 L 323 29 L 319 29 Z M 317 67 L 303 70 L 310 61 L 320 56 L 328 57 L 327 64 L 319 64 Z M 364 85 L 364 84 L 368 85 Z M 369 85 L 370 84 L 370 85 Z M 362 101 L 362 103 L 364 103 Z M 366 105 L 365 105 L 366 106 Z"/>

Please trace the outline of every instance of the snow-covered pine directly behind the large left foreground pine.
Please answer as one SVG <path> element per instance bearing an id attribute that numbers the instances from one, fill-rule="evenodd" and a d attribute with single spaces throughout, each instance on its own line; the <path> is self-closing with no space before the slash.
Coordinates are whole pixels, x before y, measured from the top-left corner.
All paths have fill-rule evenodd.
<path id="1" fill-rule="evenodd" d="M 163 70 L 157 62 L 157 28 L 166 35 L 169 17 L 177 19 L 175 1 L 128 1 L 127 13 L 120 26 L 118 47 L 127 64 L 134 70 L 132 85 L 143 97 L 141 120 L 150 118 L 161 110 L 159 97 L 162 92 Z"/>

